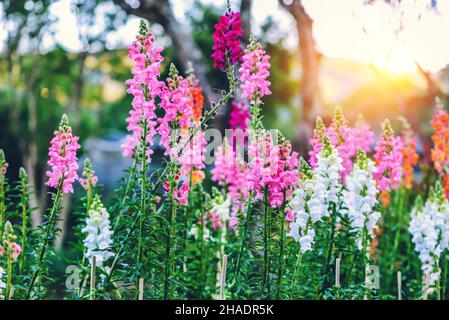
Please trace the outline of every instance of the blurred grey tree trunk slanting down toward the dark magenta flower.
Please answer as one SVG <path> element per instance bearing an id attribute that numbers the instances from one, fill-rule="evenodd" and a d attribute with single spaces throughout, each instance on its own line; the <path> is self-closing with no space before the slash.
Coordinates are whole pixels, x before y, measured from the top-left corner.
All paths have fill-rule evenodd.
<path id="1" fill-rule="evenodd" d="M 170 37 L 174 51 L 185 72 L 189 61 L 192 62 L 195 74 L 203 87 L 206 101 L 215 100 L 216 94 L 207 80 L 207 65 L 202 61 L 202 54 L 186 28 L 179 24 L 173 13 L 169 0 L 140 0 L 138 8 L 131 7 L 125 0 L 113 0 L 129 14 L 160 24 Z"/>

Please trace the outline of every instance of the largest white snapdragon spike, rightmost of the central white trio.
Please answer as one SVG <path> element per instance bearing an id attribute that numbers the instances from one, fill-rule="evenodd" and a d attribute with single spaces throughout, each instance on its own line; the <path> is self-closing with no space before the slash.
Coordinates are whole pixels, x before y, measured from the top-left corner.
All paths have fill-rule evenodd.
<path id="1" fill-rule="evenodd" d="M 380 218 L 380 213 L 374 211 L 379 192 L 373 177 L 375 170 L 374 161 L 369 159 L 363 151 L 359 151 L 353 169 L 346 178 L 346 189 L 343 191 L 348 217 L 352 227 L 357 230 L 359 250 L 363 248 L 364 229 L 366 228 L 366 236 L 373 235 Z"/>

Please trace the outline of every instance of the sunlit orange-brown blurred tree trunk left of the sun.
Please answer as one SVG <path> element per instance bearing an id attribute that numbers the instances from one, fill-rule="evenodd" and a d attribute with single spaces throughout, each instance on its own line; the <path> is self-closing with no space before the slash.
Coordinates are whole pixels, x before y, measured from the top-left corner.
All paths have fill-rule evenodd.
<path id="1" fill-rule="evenodd" d="M 300 92 L 302 99 L 302 123 L 298 125 L 298 140 L 301 146 L 306 146 L 313 132 L 315 118 L 322 113 L 322 104 L 319 94 L 320 54 L 317 52 L 313 38 L 313 20 L 304 9 L 301 0 L 279 0 L 280 5 L 286 9 L 296 21 L 298 32 L 298 50 L 301 63 L 302 78 Z M 303 156 L 307 151 L 301 150 Z"/>

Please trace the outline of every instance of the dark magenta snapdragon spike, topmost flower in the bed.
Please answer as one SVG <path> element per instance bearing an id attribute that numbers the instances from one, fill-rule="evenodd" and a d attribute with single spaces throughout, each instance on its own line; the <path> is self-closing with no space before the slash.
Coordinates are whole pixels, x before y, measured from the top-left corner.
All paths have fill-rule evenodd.
<path id="1" fill-rule="evenodd" d="M 227 63 L 233 65 L 242 59 L 240 38 L 243 36 L 243 31 L 241 24 L 239 12 L 228 10 L 219 18 L 212 36 L 214 45 L 211 58 L 214 60 L 214 68 L 226 70 Z"/>

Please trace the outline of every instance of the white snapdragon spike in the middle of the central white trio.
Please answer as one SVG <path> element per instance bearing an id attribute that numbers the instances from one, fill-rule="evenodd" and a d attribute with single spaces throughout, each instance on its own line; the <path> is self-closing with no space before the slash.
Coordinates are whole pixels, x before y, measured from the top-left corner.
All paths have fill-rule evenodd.
<path id="1" fill-rule="evenodd" d="M 342 190 L 340 172 L 343 170 L 343 160 L 327 137 L 324 137 L 324 146 L 318 153 L 317 160 L 315 174 L 318 183 L 324 186 L 324 201 L 327 204 L 334 203 L 339 209 Z M 325 215 L 328 216 L 329 212 L 326 212 Z"/>

